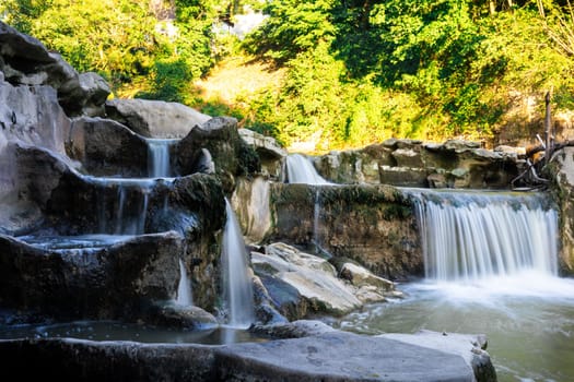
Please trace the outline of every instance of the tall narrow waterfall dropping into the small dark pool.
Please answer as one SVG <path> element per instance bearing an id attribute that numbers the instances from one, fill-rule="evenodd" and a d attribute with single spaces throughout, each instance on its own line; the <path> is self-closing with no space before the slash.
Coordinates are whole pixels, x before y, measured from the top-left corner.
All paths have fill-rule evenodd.
<path id="1" fill-rule="evenodd" d="M 227 220 L 223 231 L 221 270 L 223 300 L 229 313 L 227 324 L 248 327 L 255 321 L 251 277 L 242 230 L 227 199 L 225 213 Z"/>

